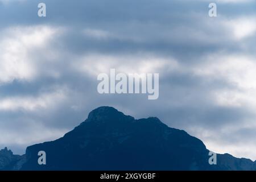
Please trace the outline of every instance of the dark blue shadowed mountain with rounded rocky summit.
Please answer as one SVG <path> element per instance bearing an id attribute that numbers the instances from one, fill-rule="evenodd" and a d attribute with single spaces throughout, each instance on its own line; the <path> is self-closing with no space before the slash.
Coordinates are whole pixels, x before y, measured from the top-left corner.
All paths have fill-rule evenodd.
<path id="1" fill-rule="evenodd" d="M 46 165 L 38 152 L 46 152 Z M 201 140 L 158 118 L 134 119 L 99 107 L 64 137 L 27 147 L 22 170 L 255 170 L 255 162 L 229 154 L 210 165 Z"/>

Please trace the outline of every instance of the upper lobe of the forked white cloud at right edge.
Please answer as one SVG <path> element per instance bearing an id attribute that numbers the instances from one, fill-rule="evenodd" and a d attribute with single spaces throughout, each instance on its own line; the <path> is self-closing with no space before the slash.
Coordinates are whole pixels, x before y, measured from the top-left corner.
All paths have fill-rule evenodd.
<path id="1" fill-rule="evenodd" d="M 197 75 L 221 77 L 240 88 L 256 89 L 255 57 L 214 53 L 201 59 L 205 61 L 193 69 Z"/>

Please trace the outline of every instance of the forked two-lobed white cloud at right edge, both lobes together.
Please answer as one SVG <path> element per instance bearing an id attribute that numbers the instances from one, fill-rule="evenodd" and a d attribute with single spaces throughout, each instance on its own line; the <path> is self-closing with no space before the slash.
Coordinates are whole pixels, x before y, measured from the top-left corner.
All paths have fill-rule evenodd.
<path id="1" fill-rule="evenodd" d="M 215 54 L 205 58 L 205 63 L 193 68 L 199 76 L 218 78 L 232 88 L 212 90 L 216 104 L 252 109 L 256 106 L 256 60 L 247 55 Z"/>

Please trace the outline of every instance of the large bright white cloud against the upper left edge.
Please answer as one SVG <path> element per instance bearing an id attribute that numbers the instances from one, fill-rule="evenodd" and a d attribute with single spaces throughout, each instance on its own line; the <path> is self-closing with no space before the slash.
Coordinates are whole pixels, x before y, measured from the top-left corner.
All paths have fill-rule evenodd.
<path id="1" fill-rule="evenodd" d="M 48 26 L 10 27 L 0 32 L 0 84 L 33 80 L 40 72 L 36 51 L 47 48 L 57 33 Z"/>

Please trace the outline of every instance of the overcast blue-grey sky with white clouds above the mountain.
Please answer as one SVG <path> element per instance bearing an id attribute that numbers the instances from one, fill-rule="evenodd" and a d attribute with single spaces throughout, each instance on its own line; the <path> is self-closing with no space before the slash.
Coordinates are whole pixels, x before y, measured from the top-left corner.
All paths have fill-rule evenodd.
<path id="1" fill-rule="evenodd" d="M 0 0 L 0 148 L 24 154 L 108 105 L 255 160 L 255 2 Z M 158 100 L 98 94 L 110 68 L 159 73 Z"/>

